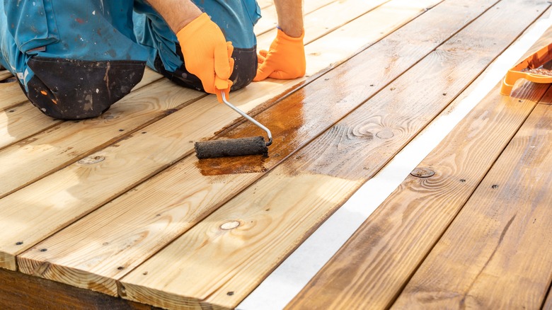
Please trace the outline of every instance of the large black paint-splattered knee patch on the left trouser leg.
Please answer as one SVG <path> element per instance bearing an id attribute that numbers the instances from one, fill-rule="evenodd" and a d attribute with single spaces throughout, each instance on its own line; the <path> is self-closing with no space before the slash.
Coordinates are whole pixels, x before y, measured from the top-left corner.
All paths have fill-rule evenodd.
<path id="1" fill-rule="evenodd" d="M 144 74 L 144 62 L 85 62 L 33 57 L 29 100 L 59 120 L 98 117 L 130 93 Z"/>

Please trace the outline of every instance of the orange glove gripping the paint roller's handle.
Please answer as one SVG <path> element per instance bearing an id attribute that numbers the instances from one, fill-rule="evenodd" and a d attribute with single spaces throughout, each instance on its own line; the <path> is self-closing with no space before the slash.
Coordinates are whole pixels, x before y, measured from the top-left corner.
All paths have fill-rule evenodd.
<path id="1" fill-rule="evenodd" d="M 180 42 L 186 69 L 200 78 L 203 89 L 207 93 L 217 93 L 219 102 L 222 102 L 220 91 L 225 91 L 226 98 L 229 98 L 234 47 L 232 42 L 226 42 L 219 26 L 207 13 L 202 13 L 178 31 L 176 38 Z"/>

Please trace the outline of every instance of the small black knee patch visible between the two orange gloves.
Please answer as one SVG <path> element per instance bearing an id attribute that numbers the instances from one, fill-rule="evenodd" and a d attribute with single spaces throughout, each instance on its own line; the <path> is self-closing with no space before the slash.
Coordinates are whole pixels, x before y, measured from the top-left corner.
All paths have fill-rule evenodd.
<path id="1" fill-rule="evenodd" d="M 230 79 L 234 83 L 231 88 L 234 91 L 250 84 L 257 74 L 257 49 L 256 47 L 235 47 L 232 58 L 234 58 L 234 71 Z"/>

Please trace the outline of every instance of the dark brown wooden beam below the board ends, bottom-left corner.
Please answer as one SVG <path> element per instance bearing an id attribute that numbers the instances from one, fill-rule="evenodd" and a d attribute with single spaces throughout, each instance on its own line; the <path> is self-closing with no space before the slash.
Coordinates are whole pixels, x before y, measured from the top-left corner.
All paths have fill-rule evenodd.
<path id="1" fill-rule="evenodd" d="M 0 305 L 2 309 L 159 309 L 125 299 L 110 297 L 89 289 L 79 289 L 21 272 L 0 268 Z"/>

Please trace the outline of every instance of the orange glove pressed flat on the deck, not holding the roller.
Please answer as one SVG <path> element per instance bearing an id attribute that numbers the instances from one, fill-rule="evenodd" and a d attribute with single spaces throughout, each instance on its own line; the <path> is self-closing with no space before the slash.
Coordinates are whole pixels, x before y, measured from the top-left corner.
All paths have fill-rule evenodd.
<path id="1" fill-rule="evenodd" d="M 259 67 L 253 81 L 262 81 L 267 77 L 273 79 L 296 79 L 305 75 L 305 47 L 301 33 L 299 38 L 292 38 L 278 29 L 278 33 L 268 51 L 261 50 L 257 61 Z"/>

